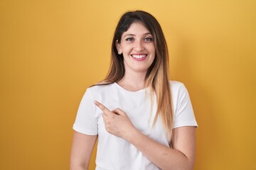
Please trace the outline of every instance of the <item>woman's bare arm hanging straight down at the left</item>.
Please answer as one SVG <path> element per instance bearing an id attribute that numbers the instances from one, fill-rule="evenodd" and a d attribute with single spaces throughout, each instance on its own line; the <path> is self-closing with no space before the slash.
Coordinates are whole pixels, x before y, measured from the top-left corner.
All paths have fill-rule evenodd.
<path id="1" fill-rule="evenodd" d="M 70 156 L 70 170 L 87 170 L 97 135 L 85 135 L 74 131 Z"/>

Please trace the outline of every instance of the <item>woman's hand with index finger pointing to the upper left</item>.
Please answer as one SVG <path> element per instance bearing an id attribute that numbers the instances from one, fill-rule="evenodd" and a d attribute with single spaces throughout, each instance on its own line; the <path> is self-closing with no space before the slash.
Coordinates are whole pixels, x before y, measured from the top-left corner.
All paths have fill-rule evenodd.
<path id="1" fill-rule="evenodd" d="M 98 101 L 95 101 L 95 105 L 103 111 L 102 117 L 107 132 L 126 139 L 132 134 L 133 130 L 136 130 L 127 114 L 121 109 L 116 108 L 114 111 L 110 111 Z"/>

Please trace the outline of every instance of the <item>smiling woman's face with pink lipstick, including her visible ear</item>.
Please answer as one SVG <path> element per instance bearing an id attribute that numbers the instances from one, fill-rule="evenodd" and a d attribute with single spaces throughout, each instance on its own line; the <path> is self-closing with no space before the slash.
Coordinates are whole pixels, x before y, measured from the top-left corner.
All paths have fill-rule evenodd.
<path id="1" fill-rule="evenodd" d="M 154 62 L 154 39 L 142 23 L 132 23 L 122 34 L 121 42 L 116 42 L 117 51 L 124 56 L 125 74 L 147 72 Z"/>

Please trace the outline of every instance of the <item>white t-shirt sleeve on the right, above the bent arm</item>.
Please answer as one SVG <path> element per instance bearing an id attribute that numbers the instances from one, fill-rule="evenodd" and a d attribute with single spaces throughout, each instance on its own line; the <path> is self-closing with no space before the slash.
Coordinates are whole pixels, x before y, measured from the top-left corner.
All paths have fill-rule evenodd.
<path id="1" fill-rule="evenodd" d="M 196 126 L 196 118 L 193 113 L 191 100 L 186 87 L 181 84 L 176 96 L 176 109 L 174 113 L 174 128 L 182 126 Z"/>

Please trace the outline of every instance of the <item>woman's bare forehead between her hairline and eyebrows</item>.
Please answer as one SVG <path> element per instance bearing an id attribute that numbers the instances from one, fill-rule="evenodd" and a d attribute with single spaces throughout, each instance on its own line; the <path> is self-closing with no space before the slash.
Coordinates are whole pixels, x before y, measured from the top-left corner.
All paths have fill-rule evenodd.
<path id="1" fill-rule="evenodd" d="M 132 23 L 131 26 L 129 26 L 128 30 L 123 33 L 123 36 L 125 35 L 144 35 L 144 34 L 150 34 L 150 31 L 144 26 L 144 24 L 135 22 Z"/>

